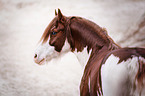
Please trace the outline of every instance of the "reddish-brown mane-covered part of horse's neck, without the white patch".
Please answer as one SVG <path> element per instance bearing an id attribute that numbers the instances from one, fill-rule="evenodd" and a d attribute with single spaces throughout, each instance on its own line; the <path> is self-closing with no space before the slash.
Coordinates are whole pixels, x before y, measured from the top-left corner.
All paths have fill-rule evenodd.
<path id="1" fill-rule="evenodd" d="M 84 47 L 101 48 L 103 46 L 118 47 L 108 36 L 105 28 L 81 17 L 71 17 L 69 20 L 67 39 L 72 46 L 72 51 L 82 51 Z M 71 39 L 71 40 L 70 40 Z M 116 45 L 116 46 L 113 46 Z M 110 48 L 109 47 L 109 48 Z"/>

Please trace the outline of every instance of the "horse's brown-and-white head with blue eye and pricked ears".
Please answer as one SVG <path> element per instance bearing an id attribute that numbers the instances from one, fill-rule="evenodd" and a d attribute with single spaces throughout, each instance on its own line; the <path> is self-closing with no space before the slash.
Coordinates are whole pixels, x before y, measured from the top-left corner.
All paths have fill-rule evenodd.
<path id="1" fill-rule="evenodd" d="M 55 10 L 55 17 L 45 29 L 38 48 L 35 51 L 34 60 L 38 64 L 58 57 L 61 53 L 70 51 L 70 45 L 66 40 L 67 18 L 63 16 L 60 9 Z"/>

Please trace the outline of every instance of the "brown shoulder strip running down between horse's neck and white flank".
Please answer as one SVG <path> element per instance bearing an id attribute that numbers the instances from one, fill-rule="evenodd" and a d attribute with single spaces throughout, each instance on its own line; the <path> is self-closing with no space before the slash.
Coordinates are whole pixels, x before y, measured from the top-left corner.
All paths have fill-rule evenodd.
<path id="1" fill-rule="evenodd" d="M 103 58 L 111 51 L 112 50 L 108 50 L 107 46 L 104 46 L 99 51 L 92 51 L 91 57 L 85 67 L 80 85 L 81 96 L 103 95 L 100 69 Z"/>

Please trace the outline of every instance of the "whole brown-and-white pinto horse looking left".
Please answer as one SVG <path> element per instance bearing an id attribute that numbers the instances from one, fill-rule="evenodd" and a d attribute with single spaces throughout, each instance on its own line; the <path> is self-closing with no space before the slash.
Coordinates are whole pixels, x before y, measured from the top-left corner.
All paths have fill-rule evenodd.
<path id="1" fill-rule="evenodd" d="M 69 51 L 81 63 L 87 60 L 81 96 L 145 96 L 145 49 L 121 48 L 104 28 L 81 17 L 66 17 L 58 9 L 40 39 L 34 60 L 43 64 Z"/>

